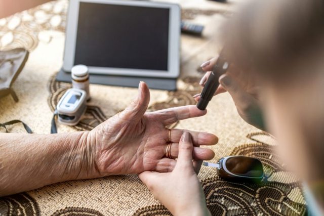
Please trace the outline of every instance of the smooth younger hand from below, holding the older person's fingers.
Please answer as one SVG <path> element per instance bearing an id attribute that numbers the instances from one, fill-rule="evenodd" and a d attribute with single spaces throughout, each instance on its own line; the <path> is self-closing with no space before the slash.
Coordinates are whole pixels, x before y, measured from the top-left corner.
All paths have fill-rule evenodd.
<path id="1" fill-rule="evenodd" d="M 139 178 L 154 197 L 174 215 L 210 215 L 197 178 L 202 161 L 192 162 L 192 137 L 188 132 L 179 141 L 179 155 L 172 172 L 144 171 Z"/>

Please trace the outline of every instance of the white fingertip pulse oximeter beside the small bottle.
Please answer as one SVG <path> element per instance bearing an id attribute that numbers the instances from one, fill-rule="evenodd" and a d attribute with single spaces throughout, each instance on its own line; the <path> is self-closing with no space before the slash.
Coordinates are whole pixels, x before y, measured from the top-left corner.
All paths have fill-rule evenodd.
<path id="1" fill-rule="evenodd" d="M 87 93 L 84 90 L 67 90 L 56 106 L 59 122 L 76 125 L 86 112 L 86 98 Z"/>

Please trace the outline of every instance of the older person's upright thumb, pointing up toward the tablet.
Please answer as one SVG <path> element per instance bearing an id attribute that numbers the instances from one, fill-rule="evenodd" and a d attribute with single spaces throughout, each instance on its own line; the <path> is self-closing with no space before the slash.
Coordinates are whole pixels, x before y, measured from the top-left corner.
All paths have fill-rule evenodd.
<path id="1" fill-rule="evenodd" d="M 140 81 L 137 98 L 120 115 L 126 120 L 140 120 L 150 102 L 150 91 L 145 82 Z"/>

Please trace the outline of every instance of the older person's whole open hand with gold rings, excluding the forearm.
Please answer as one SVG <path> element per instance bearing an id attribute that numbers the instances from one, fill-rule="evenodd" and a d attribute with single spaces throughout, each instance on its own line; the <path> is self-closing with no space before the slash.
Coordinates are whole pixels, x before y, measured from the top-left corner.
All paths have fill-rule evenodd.
<path id="1" fill-rule="evenodd" d="M 145 113 L 150 100 L 144 82 L 139 84 L 138 98 L 129 107 L 94 128 L 87 137 L 87 146 L 93 155 L 93 167 L 97 176 L 139 174 L 146 170 L 167 172 L 176 165 L 166 158 L 169 129 L 166 126 L 186 118 L 205 115 L 195 106 L 170 108 Z M 171 156 L 178 156 L 178 143 L 184 130 L 171 131 Z M 216 136 L 202 132 L 190 132 L 195 145 L 193 158 L 209 160 L 214 157 L 210 149 L 200 145 L 214 145 Z"/>

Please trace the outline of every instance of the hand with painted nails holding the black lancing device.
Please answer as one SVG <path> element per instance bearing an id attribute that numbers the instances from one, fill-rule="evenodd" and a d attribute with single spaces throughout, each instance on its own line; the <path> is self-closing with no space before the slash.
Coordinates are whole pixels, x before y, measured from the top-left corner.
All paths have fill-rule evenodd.
<path id="1" fill-rule="evenodd" d="M 211 70 L 216 64 L 218 57 L 211 59 L 203 64 L 201 68 L 206 74 L 201 78 L 199 84 L 205 85 Z M 262 110 L 259 101 L 259 86 L 251 73 L 245 73 L 235 65 L 231 64 L 226 74 L 219 77 L 219 87 L 215 95 L 228 92 L 237 109 L 238 114 L 249 124 L 265 130 Z M 195 101 L 199 101 L 200 94 L 193 96 Z"/>

